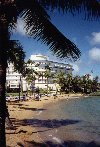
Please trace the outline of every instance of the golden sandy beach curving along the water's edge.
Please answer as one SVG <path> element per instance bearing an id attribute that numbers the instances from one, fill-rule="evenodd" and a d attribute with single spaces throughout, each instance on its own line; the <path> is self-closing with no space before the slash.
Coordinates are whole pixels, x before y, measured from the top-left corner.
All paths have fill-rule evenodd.
<path id="1" fill-rule="evenodd" d="M 81 96 L 81 94 L 63 94 L 58 95 L 57 97 L 42 97 L 40 101 L 28 100 L 22 102 L 9 102 L 8 110 L 14 127 L 13 129 L 6 129 L 7 146 L 31 147 L 28 142 L 33 140 L 34 142 L 43 143 L 43 140 L 41 139 L 37 130 L 28 125 L 27 119 L 32 119 L 35 117 L 36 113 L 39 113 L 42 109 L 44 109 L 45 105 L 56 103 L 62 99 L 70 100 L 73 98 L 80 98 Z M 41 147 L 41 144 L 35 144 L 34 147 L 35 146 Z"/>

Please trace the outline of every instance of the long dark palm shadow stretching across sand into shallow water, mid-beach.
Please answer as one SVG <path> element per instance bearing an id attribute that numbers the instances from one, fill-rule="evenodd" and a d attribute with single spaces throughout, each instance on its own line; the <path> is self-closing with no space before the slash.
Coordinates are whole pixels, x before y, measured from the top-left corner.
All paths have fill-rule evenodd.
<path id="1" fill-rule="evenodd" d="M 61 126 L 71 125 L 79 123 L 80 120 L 70 120 L 70 119 L 48 119 L 48 120 L 40 120 L 40 119 L 24 119 L 24 120 L 14 120 L 15 125 L 17 126 L 32 126 L 32 127 L 46 127 L 46 128 L 58 128 Z"/>

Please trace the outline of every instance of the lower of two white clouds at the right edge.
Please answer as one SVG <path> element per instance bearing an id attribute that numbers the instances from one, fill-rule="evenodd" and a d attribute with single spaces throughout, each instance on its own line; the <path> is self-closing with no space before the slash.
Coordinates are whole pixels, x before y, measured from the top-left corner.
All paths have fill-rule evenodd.
<path id="1" fill-rule="evenodd" d="M 89 50 L 89 56 L 94 61 L 100 61 L 100 48 L 94 47 Z"/>

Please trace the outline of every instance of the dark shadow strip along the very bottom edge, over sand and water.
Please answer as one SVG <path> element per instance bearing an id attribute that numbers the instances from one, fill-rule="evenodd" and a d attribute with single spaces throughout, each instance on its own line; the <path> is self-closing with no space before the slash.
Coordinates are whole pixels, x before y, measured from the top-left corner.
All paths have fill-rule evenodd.
<path id="1" fill-rule="evenodd" d="M 82 142 L 82 141 L 64 141 L 62 144 L 56 144 L 50 141 L 38 143 L 34 141 L 25 142 L 25 144 L 17 143 L 20 147 L 100 147 L 95 141 Z"/>

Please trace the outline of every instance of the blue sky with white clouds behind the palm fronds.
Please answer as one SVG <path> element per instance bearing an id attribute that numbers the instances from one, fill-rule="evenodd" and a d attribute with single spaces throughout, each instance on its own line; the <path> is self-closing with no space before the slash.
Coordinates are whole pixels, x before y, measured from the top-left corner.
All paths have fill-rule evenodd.
<path id="1" fill-rule="evenodd" d="M 49 47 L 41 42 L 28 38 L 23 29 L 24 23 L 18 20 L 16 31 L 13 31 L 11 39 L 19 40 L 26 52 L 26 60 L 32 54 L 47 55 L 50 60 L 69 63 L 73 65 L 74 75 L 91 74 L 100 77 L 100 20 L 88 21 L 83 14 L 59 14 L 50 12 L 51 22 L 62 32 L 66 38 L 74 42 L 81 51 L 81 57 L 76 62 L 60 60 L 50 52 Z"/>

